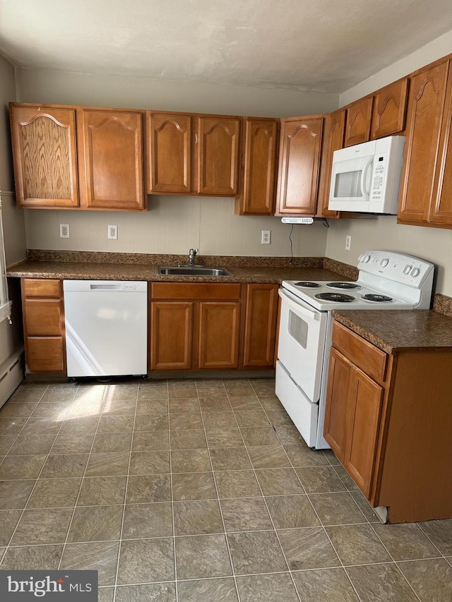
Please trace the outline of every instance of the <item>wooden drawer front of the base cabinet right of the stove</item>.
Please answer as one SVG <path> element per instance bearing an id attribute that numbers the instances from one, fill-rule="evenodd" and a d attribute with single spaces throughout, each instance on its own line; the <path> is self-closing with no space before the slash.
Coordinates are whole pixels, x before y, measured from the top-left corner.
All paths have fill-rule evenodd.
<path id="1" fill-rule="evenodd" d="M 384 382 L 388 356 L 355 332 L 335 322 L 333 324 L 333 347 L 372 378 Z"/>

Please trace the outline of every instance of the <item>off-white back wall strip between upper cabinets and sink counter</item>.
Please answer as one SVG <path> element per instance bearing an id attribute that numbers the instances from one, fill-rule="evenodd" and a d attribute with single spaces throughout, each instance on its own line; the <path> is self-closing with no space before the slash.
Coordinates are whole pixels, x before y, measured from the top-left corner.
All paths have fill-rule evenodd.
<path id="1" fill-rule="evenodd" d="M 234 215 L 232 198 L 149 196 L 143 213 L 25 210 L 28 248 L 117 253 L 176 253 L 199 248 L 199 255 L 290 256 L 291 227 L 278 217 Z M 71 238 L 59 238 L 59 224 Z M 118 226 L 118 240 L 107 239 L 107 225 Z M 271 244 L 261 244 L 261 231 Z M 328 229 L 321 222 L 295 226 L 295 256 L 323 257 Z"/>

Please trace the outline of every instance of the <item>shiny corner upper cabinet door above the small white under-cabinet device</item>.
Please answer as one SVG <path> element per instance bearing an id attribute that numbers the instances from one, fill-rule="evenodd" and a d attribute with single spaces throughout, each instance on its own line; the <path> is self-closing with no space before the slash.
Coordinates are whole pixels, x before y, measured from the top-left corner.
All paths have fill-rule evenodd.
<path id="1" fill-rule="evenodd" d="M 278 182 L 280 215 L 315 215 L 322 128 L 322 117 L 283 120 Z"/>

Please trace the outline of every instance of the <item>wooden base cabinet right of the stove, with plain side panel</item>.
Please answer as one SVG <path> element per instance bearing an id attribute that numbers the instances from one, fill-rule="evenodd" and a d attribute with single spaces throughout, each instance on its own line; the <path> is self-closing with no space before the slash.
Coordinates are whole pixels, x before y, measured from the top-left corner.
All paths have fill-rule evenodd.
<path id="1" fill-rule="evenodd" d="M 324 436 L 388 522 L 452 518 L 452 351 L 385 354 L 333 325 Z"/>

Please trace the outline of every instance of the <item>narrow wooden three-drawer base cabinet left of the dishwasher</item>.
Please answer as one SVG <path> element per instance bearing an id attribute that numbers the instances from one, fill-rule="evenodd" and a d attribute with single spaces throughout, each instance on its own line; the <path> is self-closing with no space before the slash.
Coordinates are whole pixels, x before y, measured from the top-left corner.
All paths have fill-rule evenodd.
<path id="1" fill-rule="evenodd" d="M 28 372 L 64 372 L 64 308 L 61 281 L 22 279 L 25 363 Z"/>

